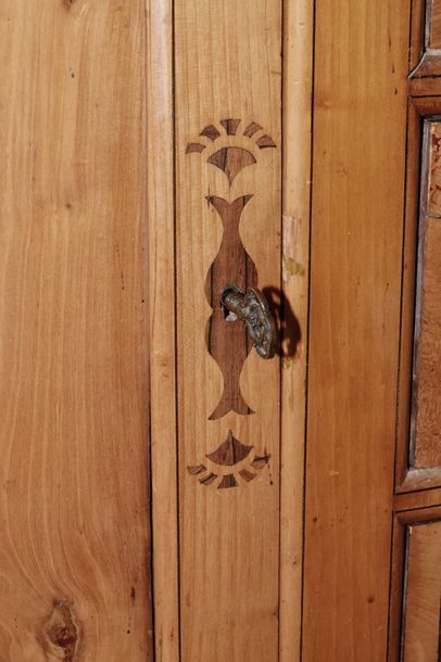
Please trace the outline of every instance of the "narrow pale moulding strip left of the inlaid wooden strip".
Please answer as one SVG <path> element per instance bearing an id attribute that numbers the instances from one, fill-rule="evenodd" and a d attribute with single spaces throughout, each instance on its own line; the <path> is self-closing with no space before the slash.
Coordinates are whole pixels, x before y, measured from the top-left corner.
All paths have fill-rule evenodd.
<path id="1" fill-rule="evenodd" d="M 173 3 L 149 0 L 147 10 L 154 646 L 156 662 L 178 662 Z"/>

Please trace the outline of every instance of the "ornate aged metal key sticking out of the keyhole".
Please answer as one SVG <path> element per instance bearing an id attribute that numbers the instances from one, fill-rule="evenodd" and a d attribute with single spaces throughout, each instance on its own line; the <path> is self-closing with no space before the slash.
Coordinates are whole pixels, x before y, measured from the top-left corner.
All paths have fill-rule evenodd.
<path id="1" fill-rule="evenodd" d="M 226 319 L 240 319 L 247 324 L 253 345 L 262 358 L 276 353 L 277 331 L 268 303 L 260 290 L 249 288 L 245 293 L 237 285 L 227 285 L 220 294 L 220 307 Z"/>

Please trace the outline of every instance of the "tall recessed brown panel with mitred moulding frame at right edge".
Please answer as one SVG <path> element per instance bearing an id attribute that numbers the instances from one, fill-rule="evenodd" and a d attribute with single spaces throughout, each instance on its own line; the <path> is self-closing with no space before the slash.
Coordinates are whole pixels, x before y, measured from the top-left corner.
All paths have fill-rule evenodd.
<path id="1" fill-rule="evenodd" d="M 437 253 L 433 252 L 433 246 L 427 244 L 428 219 L 424 213 L 424 209 L 429 207 L 430 214 L 437 216 L 438 156 L 431 156 L 433 152 L 431 133 L 433 127 L 438 126 L 434 122 L 426 122 L 421 152 L 421 129 L 425 117 L 437 115 L 440 111 L 441 102 L 438 98 L 413 99 L 410 103 L 398 408 L 398 492 L 433 487 L 440 484 L 441 476 L 440 469 L 437 469 L 440 463 L 437 455 L 436 423 L 438 387 L 433 389 L 432 383 L 433 380 L 437 381 L 439 362 L 437 349 L 433 352 L 433 343 L 437 344 L 433 329 L 438 316 L 433 300 L 437 298 L 439 278 Z M 430 171 L 432 175 L 429 175 Z M 418 204 L 419 200 L 420 204 Z M 420 220 L 418 220 L 418 211 L 420 211 Z M 436 218 L 429 219 L 429 225 L 436 220 Z M 425 280 L 427 257 L 429 278 Z M 426 290 L 429 306 L 425 314 Z M 429 343 L 425 342 L 427 338 Z"/>

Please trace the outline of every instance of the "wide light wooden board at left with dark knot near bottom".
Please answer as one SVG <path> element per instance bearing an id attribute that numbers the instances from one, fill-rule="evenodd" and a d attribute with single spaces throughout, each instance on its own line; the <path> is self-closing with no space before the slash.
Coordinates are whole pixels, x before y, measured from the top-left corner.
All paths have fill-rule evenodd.
<path id="1" fill-rule="evenodd" d="M 143 4 L 0 8 L 0 659 L 151 659 Z"/>

